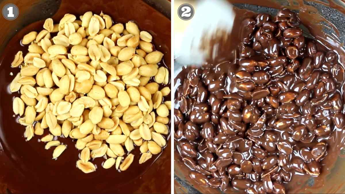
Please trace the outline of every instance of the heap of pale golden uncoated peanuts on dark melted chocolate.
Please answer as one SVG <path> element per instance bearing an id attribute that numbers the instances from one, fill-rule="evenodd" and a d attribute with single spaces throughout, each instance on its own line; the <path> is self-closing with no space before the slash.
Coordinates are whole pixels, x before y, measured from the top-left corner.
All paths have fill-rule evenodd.
<path id="1" fill-rule="evenodd" d="M 23 37 L 29 52 L 18 51 L 11 64 L 20 68 L 10 90 L 20 92 L 13 111 L 26 126 L 24 137 L 49 130 L 40 141 L 56 146 L 53 159 L 67 148 L 59 138 L 77 139 L 84 173 L 96 170 L 89 160 L 97 157 L 107 158 L 103 168 L 125 171 L 135 145 L 139 164 L 160 153 L 169 133 L 169 71 L 157 65 L 163 54 L 154 51 L 152 36 L 134 22 L 113 25 L 109 15 L 91 11 L 80 20 L 65 14 L 57 24 L 48 18 L 43 28 Z"/>

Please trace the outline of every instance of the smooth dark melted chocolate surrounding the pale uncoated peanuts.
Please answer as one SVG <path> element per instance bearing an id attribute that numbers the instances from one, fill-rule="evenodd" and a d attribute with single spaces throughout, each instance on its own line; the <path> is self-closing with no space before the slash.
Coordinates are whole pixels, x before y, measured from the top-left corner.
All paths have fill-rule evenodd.
<path id="1" fill-rule="evenodd" d="M 22 2 L 24 4 L 28 2 Z M 24 7 L 29 9 L 30 7 Z M 26 10 L 41 11 L 41 10 Z M 60 21 L 65 13 L 80 16 L 86 11 L 109 14 L 114 22 L 137 22 L 142 30 L 150 32 L 156 49 L 164 53 L 164 63 L 170 69 L 171 22 L 158 11 L 141 0 L 84 1 L 62 0 L 57 13 L 52 17 Z M 104 169 L 104 158 L 96 158 L 96 172 L 85 174 L 76 167 L 78 151 L 75 141 L 60 138 L 68 148 L 63 157 L 52 159 L 53 150 L 46 150 L 45 143 L 38 142 L 41 136 L 35 135 L 25 141 L 25 127 L 13 117 L 12 99 L 19 94 L 9 92 L 9 84 L 19 72 L 11 68 L 14 55 L 19 50 L 27 50 L 20 45 L 21 38 L 32 30 L 43 29 L 44 21 L 36 22 L 18 32 L 7 44 L 0 58 L 0 193 L 170 193 L 171 191 L 171 141 L 159 155 L 139 165 L 140 151 L 135 147 L 134 162 L 124 172 L 115 168 Z M 24 52 L 23 54 L 26 54 Z M 13 72 L 14 76 L 10 75 Z M 170 100 L 167 96 L 164 100 Z M 18 119 L 18 118 L 17 118 Z M 48 131 L 45 131 L 47 134 Z M 61 155 L 62 156 L 62 155 Z"/>

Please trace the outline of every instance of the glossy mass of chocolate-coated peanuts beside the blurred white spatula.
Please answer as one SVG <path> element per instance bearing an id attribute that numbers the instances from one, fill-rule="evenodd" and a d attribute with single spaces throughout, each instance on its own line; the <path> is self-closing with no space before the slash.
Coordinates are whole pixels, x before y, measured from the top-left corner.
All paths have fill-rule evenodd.
<path id="1" fill-rule="evenodd" d="M 175 152 L 198 187 L 288 193 L 293 178 L 327 174 L 343 146 L 344 66 L 294 12 L 236 11 L 220 56 L 231 60 L 175 78 Z"/>

